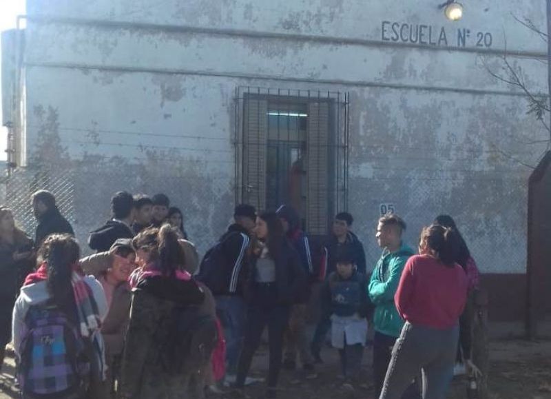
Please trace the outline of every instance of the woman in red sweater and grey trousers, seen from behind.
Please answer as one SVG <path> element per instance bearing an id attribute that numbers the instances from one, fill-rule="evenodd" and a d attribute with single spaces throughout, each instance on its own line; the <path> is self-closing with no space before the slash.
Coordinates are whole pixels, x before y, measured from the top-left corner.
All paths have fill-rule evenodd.
<path id="1" fill-rule="evenodd" d="M 467 297 L 467 278 L 455 263 L 459 240 L 440 225 L 421 234 L 419 255 L 409 258 L 395 294 L 406 320 L 380 399 L 398 399 L 423 371 L 423 399 L 444 399 L 453 378 L 459 340 L 459 316 Z"/>

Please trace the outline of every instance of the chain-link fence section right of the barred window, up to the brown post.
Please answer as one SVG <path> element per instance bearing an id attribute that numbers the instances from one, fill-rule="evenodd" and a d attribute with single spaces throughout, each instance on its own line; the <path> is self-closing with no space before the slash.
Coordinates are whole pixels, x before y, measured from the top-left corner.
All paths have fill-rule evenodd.
<path id="1" fill-rule="evenodd" d="M 358 188 L 361 187 L 361 190 Z M 526 265 L 526 178 L 521 174 L 351 178 L 350 212 L 366 249 L 368 270 L 381 254 L 375 240 L 381 208 L 404 218 L 404 241 L 417 249 L 422 227 L 439 214 L 453 216 L 484 273 L 522 272 Z M 503 201 L 510 198 L 510 201 Z M 514 206 L 511 206 L 513 205 Z M 521 205 L 521 206 L 518 206 Z"/>

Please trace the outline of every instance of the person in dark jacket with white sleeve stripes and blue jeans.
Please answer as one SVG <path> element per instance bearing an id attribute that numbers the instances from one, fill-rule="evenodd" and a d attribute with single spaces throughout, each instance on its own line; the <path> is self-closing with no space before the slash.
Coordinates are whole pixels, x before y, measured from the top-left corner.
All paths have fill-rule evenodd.
<path id="1" fill-rule="evenodd" d="M 205 283 L 216 300 L 216 313 L 226 338 L 227 376 L 233 382 L 245 336 L 246 307 L 243 298 L 249 275 L 249 249 L 256 209 L 238 205 L 233 212 L 235 223 L 228 227 L 218 243 L 207 252 L 200 265 L 198 280 Z"/>

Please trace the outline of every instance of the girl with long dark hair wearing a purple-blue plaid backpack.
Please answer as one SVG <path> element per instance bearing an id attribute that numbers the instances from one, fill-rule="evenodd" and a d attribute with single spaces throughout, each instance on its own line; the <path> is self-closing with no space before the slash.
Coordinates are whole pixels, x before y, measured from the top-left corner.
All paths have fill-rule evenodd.
<path id="1" fill-rule="evenodd" d="M 48 236 L 39 249 L 39 268 L 17 298 L 13 342 L 23 398 L 101 398 L 100 328 L 107 303 L 101 284 L 83 275 L 79 258 L 72 236 Z"/>

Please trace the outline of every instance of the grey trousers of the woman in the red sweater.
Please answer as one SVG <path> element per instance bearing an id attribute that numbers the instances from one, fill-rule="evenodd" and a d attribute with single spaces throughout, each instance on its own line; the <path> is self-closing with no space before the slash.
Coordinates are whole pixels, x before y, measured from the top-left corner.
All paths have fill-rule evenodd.
<path id="1" fill-rule="evenodd" d="M 439 330 L 406 323 L 396 340 L 380 399 L 399 399 L 423 371 L 423 399 L 444 399 L 453 379 L 459 326 Z"/>

